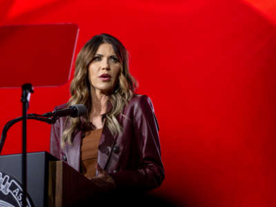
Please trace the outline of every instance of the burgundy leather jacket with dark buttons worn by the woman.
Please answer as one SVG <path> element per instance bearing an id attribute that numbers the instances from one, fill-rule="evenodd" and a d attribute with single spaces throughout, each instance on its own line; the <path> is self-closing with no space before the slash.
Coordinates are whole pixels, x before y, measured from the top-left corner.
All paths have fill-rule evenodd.
<path id="1" fill-rule="evenodd" d="M 55 110 L 65 108 L 66 104 Z M 157 188 L 164 180 L 160 144 L 154 108 L 146 95 L 133 95 L 117 120 L 122 126 L 121 134 L 112 136 L 103 126 L 99 141 L 98 164 L 108 172 L 120 187 L 149 190 Z M 61 148 L 61 135 L 66 117 L 61 117 L 51 128 L 50 153 L 80 170 L 80 148 L 83 132 L 73 137 L 72 145 Z"/>

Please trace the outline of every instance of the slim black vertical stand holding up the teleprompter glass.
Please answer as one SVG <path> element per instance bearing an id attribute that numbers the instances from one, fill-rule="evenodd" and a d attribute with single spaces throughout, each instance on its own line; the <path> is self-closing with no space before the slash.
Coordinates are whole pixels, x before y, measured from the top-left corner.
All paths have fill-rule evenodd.
<path id="1" fill-rule="evenodd" d="M 22 86 L 22 206 L 27 206 L 27 111 L 30 101 L 30 92 L 33 92 L 30 83 L 23 84 Z"/>

